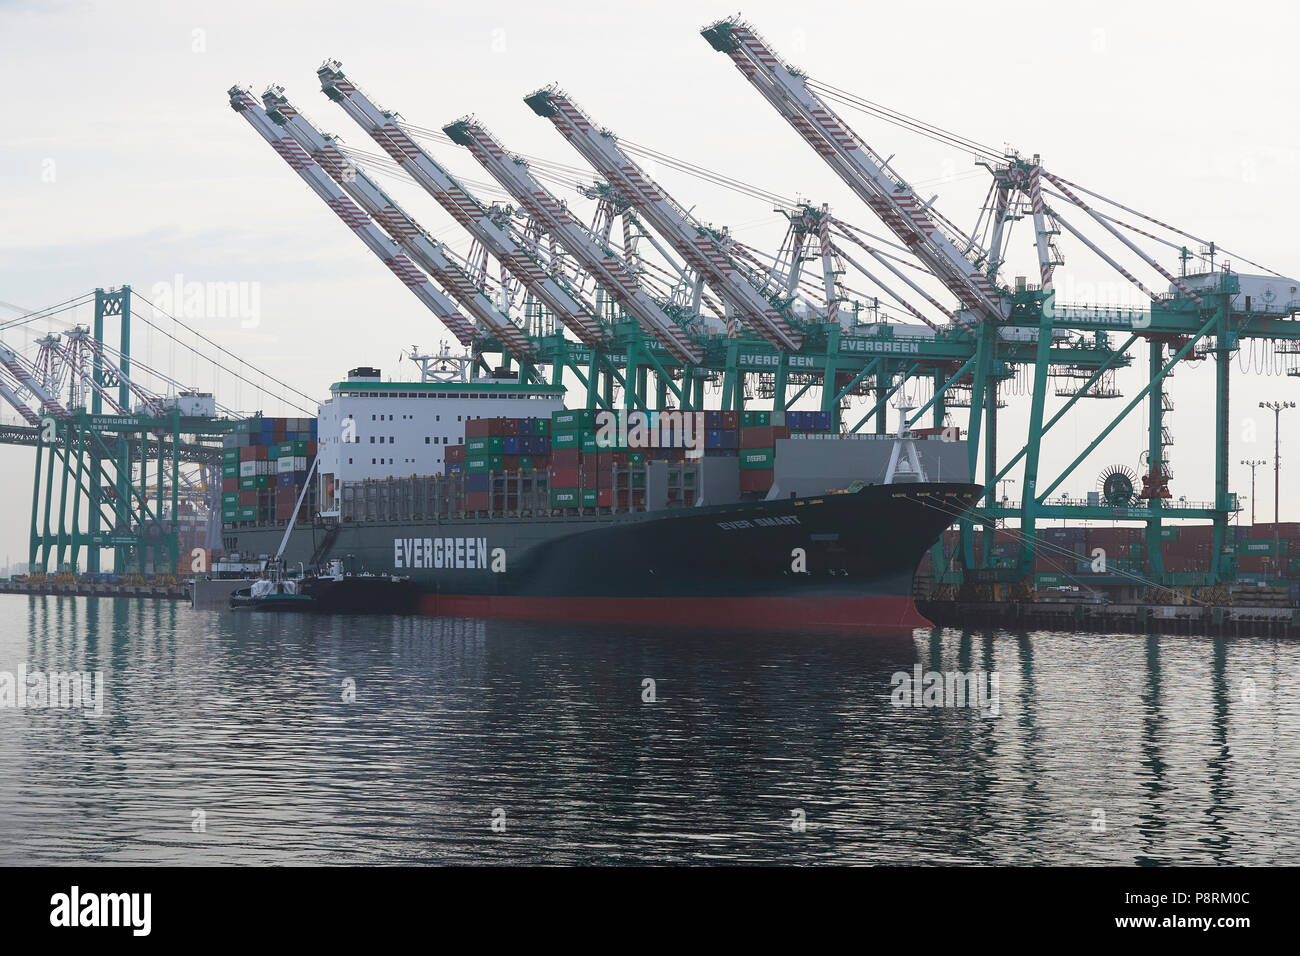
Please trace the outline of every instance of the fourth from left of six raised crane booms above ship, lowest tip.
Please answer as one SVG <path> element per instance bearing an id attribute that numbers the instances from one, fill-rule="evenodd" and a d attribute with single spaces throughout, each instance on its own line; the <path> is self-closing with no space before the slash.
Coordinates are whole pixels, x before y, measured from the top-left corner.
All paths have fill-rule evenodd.
<path id="1" fill-rule="evenodd" d="M 469 150 L 486 169 L 528 211 L 536 222 L 542 224 L 615 300 L 641 324 L 664 349 L 680 362 L 698 363 L 703 351 L 696 345 L 677 319 L 664 311 L 645 289 L 627 264 L 607 245 L 598 242 L 586 228 L 577 221 L 568 207 L 560 203 L 536 177 L 528 165 L 497 142 L 473 118 L 459 120 L 443 127 L 451 139 Z"/>

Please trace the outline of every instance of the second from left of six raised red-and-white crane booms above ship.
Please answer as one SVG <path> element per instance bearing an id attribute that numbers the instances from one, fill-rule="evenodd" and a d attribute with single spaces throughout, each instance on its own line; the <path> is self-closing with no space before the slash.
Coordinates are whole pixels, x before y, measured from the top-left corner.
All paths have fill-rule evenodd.
<path id="1" fill-rule="evenodd" d="M 303 147 L 339 189 L 347 193 L 384 230 L 424 268 L 438 285 L 480 323 L 489 329 L 502 346 L 517 359 L 528 360 L 534 350 L 528 336 L 507 316 L 502 315 L 493 299 L 456 261 L 456 258 L 426 233 L 378 185 L 359 169 L 335 144 L 321 133 L 276 87 L 263 94 L 263 104 L 274 122 Z"/>

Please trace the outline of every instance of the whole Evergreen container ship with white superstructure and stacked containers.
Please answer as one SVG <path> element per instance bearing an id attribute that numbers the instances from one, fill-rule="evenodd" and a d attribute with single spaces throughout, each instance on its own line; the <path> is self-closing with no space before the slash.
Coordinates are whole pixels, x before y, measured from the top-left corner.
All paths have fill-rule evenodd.
<path id="1" fill-rule="evenodd" d="M 906 632 L 928 624 L 916 564 L 979 492 L 939 434 L 602 418 L 556 385 L 373 368 L 318 420 L 250 420 L 225 459 L 228 554 L 276 554 L 292 525 L 286 567 L 406 579 L 408 606 L 385 610 L 441 617 Z"/>

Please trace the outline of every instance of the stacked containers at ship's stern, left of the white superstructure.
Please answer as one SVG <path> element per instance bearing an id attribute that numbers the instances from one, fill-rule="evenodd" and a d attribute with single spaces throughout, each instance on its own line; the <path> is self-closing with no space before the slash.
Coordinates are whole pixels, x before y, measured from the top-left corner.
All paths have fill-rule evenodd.
<path id="1" fill-rule="evenodd" d="M 221 522 L 229 528 L 285 524 L 316 457 L 316 419 L 247 419 L 221 451 Z M 315 509 L 308 490 L 303 515 Z"/>

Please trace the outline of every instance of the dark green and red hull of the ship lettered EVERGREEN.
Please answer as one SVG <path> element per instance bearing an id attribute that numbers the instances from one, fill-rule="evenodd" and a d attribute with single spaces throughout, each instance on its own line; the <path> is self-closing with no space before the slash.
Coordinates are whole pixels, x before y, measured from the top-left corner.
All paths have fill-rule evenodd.
<path id="1" fill-rule="evenodd" d="M 897 635 L 930 626 L 913 575 L 979 492 L 867 485 L 585 522 L 352 523 L 326 557 L 407 578 L 408 601 L 374 609 L 393 614 Z M 257 533 L 240 529 L 238 546 Z"/>

